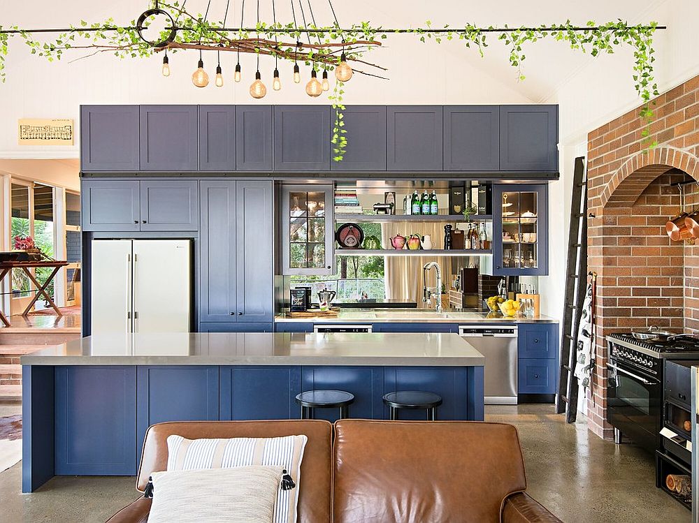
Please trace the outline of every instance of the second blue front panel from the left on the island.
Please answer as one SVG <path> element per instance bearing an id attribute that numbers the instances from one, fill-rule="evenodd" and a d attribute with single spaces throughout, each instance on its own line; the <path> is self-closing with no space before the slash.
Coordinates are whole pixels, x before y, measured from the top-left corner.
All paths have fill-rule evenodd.
<path id="1" fill-rule="evenodd" d="M 138 454 L 150 425 L 165 421 L 219 419 L 219 367 L 138 366 L 136 441 Z"/>

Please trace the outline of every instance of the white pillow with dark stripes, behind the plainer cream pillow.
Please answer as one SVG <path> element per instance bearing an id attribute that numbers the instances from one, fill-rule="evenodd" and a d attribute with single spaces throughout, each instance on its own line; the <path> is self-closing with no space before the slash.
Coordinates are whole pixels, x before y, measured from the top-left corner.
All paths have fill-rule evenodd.
<path id="1" fill-rule="evenodd" d="M 280 466 L 296 484 L 277 492 L 274 523 L 296 523 L 301 459 L 308 437 L 185 439 L 168 436 L 168 471 L 230 469 L 238 466 Z M 155 494 L 157 495 L 157 494 Z"/>

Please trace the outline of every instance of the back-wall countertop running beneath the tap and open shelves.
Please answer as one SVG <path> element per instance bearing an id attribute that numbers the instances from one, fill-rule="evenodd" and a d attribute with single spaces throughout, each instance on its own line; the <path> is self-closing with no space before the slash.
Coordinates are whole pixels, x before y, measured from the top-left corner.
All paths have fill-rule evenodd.
<path id="1" fill-rule="evenodd" d="M 274 318 L 277 323 L 461 323 L 461 324 L 514 324 L 514 323 L 558 323 L 550 316 L 535 318 L 507 318 L 502 314 L 481 311 L 444 311 L 429 309 L 340 309 L 338 316 L 310 316 L 291 318 L 280 314 Z"/>

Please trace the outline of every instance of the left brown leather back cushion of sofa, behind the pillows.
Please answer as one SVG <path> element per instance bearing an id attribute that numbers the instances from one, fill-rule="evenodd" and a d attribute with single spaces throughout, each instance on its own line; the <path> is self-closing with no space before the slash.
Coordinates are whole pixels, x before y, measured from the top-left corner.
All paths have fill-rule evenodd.
<path id="1" fill-rule="evenodd" d="M 301 481 L 298 488 L 298 522 L 329 523 L 332 499 L 332 425 L 324 420 L 182 421 L 152 425 L 145 433 L 136 487 L 143 492 L 148 476 L 164 471 L 168 461 L 167 438 L 178 434 L 199 438 L 273 438 L 305 434 Z"/>

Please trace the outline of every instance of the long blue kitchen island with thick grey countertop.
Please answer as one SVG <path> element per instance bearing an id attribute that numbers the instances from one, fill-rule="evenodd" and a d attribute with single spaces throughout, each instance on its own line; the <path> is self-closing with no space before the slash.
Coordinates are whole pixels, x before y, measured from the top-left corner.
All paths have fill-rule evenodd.
<path id="1" fill-rule="evenodd" d="M 388 418 L 386 392 L 427 390 L 444 400 L 438 419 L 483 420 L 484 358 L 457 334 L 99 335 L 21 363 L 23 492 L 57 475 L 134 475 L 157 422 L 299 418 L 303 390 L 352 392 L 350 417 L 370 419 Z"/>

